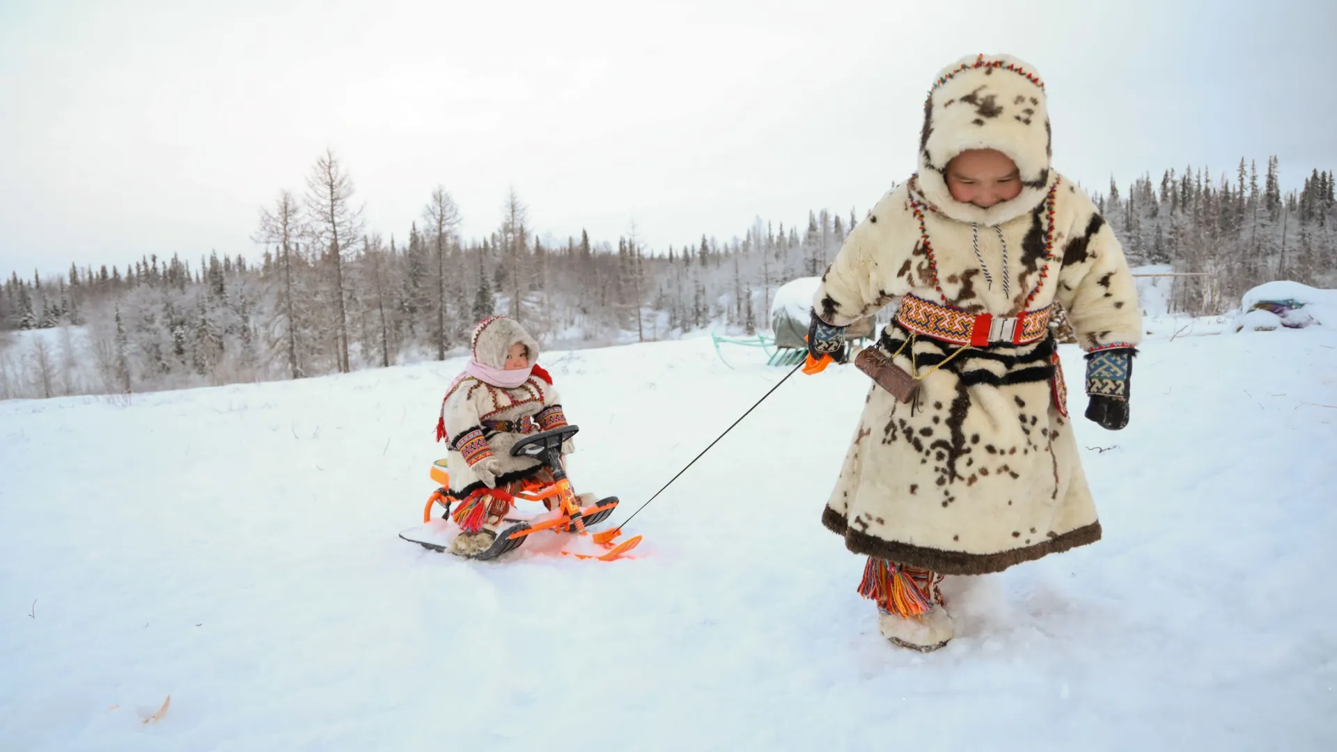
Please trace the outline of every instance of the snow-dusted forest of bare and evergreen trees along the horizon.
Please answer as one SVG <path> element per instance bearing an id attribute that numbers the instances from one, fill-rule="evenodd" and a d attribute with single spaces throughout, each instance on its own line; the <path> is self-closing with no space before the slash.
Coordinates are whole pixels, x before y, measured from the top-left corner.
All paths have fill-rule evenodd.
<path id="1" fill-rule="evenodd" d="M 1177 278 L 1170 301 L 1201 316 L 1270 280 L 1334 286 L 1333 183 L 1316 169 L 1302 190 L 1282 193 L 1275 158 L 1261 175 L 1241 159 L 1229 173 L 1167 170 L 1092 197 L 1134 264 L 1201 274 Z M 646 248 L 634 227 L 615 240 L 554 238 L 515 191 L 483 238 L 460 237 L 445 187 L 424 191 L 421 219 L 393 231 L 368 227 L 362 207 L 349 166 L 325 153 L 303 190 L 259 209 L 250 253 L 71 265 L 57 278 L 13 272 L 0 286 L 0 399 L 445 359 L 491 313 L 519 318 L 550 348 L 767 329 L 774 289 L 820 274 L 858 217 L 757 218 L 729 240 Z M 56 332 L 12 335 L 28 329 Z"/>

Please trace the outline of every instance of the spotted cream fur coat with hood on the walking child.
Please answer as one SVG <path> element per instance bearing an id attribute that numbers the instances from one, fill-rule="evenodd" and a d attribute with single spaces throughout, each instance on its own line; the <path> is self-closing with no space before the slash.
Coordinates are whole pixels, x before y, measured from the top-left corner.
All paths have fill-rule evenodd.
<path id="1" fill-rule="evenodd" d="M 1058 301 L 1083 349 L 1140 343 L 1119 241 L 1051 169 L 1050 134 L 1043 84 L 1025 63 L 980 56 L 945 68 L 925 103 L 917 174 L 849 234 L 814 294 L 818 317 L 848 325 L 906 294 L 995 316 Z M 943 169 L 969 149 L 1011 157 L 1021 194 L 988 209 L 956 202 Z M 874 347 L 892 356 L 906 339 L 893 321 Z M 920 381 L 912 404 L 872 384 L 825 526 L 852 551 L 944 574 L 1098 541 L 1055 348 L 1051 335 L 965 349 Z M 919 336 L 894 363 L 924 375 L 956 349 Z"/>

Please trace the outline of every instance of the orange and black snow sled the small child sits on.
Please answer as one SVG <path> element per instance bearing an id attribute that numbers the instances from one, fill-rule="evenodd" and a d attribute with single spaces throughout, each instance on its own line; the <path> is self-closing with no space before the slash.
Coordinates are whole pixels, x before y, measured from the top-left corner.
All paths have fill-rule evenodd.
<path id="1" fill-rule="evenodd" d="M 636 545 L 640 543 L 640 535 L 635 535 L 627 541 L 622 541 L 620 543 L 616 542 L 616 538 L 622 535 L 622 529 L 619 527 L 599 533 L 591 533 L 587 530 L 587 527 L 603 522 L 612 514 L 612 511 L 618 507 L 618 498 L 608 496 L 588 507 L 580 507 L 579 498 L 576 496 L 575 488 L 571 486 L 571 480 L 567 478 L 566 468 L 562 462 L 562 444 L 574 436 L 576 431 L 579 431 L 579 428 L 575 426 L 552 428 L 551 431 L 543 431 L 527 436 L 511 448 L 512 456 L 528 456 L 536 459 L 545 464 L 552 472 L 552 483 L 544 484 L 536 480 L 525 482 L 524 487 L 515 494 L 516 499 L 544 503 L 544 506 L 550 507 L 550 512 L 529 521 L 513 519 L 508 516 L 507 522 L 513 522 L 515 525 L 497 533 L 496 539 L 487 550 L 468 558 L 492 559 L 500 557 L 507 551 L 520 547 L 520 545 L 523 545 L 529 535 L 543 530 L 552 533 L 571 533 L 579 537 L 588 535 L 590 539 L 592 539 L 594 543 L 603 550 L 603 553 L 596 554 L 580 554 L 567 550 L 562 551 L 564 555 L 574 555 L 582 559 L 612 561 L 622 557 L 631 549 L 635 549 Z M 439 459 L 432 463 L 431 478 L 439 487 L 431 496 L 428 496 L 427 504 L 422 507 L 424 533 L 431 533 L 425 529 L 432 526 L 433 507 L 437 504 L 444 507 L 445 511 L 441 518 L 449 519 L 451 507 L 456 502 L 463 500 L 451 495 L 451 474 L 447 470 L 445 459 Z M 400 538 L 418 543 L 428 549 L 448 550 L 437 535 L 406 535 L 406 533 L 410 531 L 400 533 Z M 427 538 L 432 539 L 429 541 Z"/>

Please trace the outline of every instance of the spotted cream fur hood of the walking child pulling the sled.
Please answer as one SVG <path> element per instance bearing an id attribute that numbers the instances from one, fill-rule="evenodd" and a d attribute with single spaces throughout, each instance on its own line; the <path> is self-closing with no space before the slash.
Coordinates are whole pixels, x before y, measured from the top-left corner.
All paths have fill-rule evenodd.
<path id="1" fill-rule="evenodd" d="M 1021 174 L 1021 193 L 983 209 L 952 198 L 947 163 L 957 154 L 993 149 Z M 943 68 L 924 102 L 919 193 L 961 222 L 1000 225 L 1035 209 L 1056 175 L 1050 169 L 1051 131 L 1044 83 L 1035 68 L 1009 55 L 961 58 Z"/>

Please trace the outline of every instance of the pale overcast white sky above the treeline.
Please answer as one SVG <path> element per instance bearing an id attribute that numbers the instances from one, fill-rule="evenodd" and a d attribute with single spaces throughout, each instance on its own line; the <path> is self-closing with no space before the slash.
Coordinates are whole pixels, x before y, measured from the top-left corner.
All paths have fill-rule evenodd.
<path id="1" fill-rule="evenodd" d="M 1163 4 L 0 0 L 0 273 L 254 258 L 258 207 L 326 146 L 400 240 L 437 183 L 473 237 L 512 185 L 540 233 L 634 219 L 656 249 L 862 217 L 975 52 L 1039 68 L 1087 186 L 1337 169 L 1337 1 Z"/>

